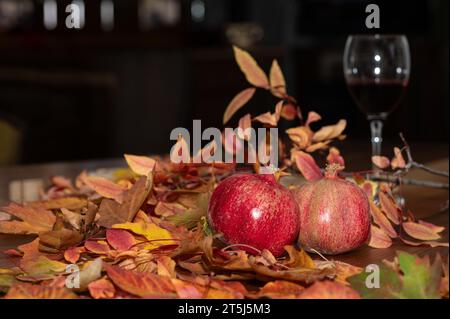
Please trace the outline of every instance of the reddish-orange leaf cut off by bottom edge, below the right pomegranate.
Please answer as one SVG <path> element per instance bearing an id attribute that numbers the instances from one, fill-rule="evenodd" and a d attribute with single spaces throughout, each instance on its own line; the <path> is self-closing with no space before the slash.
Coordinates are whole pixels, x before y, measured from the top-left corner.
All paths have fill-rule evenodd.
<path id="1" fill-rule="evenodd" d="M 300 299 L 361 299 L 353 288 L 332 281 L 319 281 L 307 288 Z"/>

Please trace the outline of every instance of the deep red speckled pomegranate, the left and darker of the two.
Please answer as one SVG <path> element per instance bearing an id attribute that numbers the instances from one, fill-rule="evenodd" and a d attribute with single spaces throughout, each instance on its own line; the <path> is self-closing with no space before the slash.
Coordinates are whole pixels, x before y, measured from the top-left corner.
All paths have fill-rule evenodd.
<path id="1" fill-rule="evenodd" d="M 274 256 L 295 243 L 299 230 L 294 197 L 269 174 L 236 174 L 223 180 L 211 196 L 208 218 L 227 243 L 268 249 Z"/>

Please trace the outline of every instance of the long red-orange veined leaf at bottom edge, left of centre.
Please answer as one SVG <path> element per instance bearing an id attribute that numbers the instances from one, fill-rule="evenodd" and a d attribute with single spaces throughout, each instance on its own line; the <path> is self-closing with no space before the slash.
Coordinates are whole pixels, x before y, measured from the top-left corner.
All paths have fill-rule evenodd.
<path id="1" fill-rule="evenodd" d="M 175 287 L 167 277 L 123 270 L 117 266 L 105 266 L 105 269 L 114 284 L 130 294 L 139 297 L 175 297 Z"/>

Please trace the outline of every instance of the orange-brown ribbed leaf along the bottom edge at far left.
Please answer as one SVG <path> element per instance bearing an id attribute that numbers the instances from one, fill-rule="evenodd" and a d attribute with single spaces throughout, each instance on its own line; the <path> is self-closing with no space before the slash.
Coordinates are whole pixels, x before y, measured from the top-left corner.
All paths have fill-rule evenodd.
<path id="1" fill-rule="evenodd" d="M 66 288 L 39 286 L 27 283 L 15 284 L 5 299 L 77 299 L 77 295 Z"/>

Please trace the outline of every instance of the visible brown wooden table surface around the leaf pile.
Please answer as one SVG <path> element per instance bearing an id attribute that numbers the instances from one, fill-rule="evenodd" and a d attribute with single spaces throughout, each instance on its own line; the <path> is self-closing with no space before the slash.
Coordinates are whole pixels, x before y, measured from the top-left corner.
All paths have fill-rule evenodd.
<path id="1" fill-rule="evenodd" d="M 344 145 L 345 144 L 346 143 L 344 143 Z M 355 146 L 357 143 L 352 143 L 352 145 Z M 359 147 L 354 147 L 352 149 L 361 150 Z M 435 168 L 448 170 L 448 144 L 417 143 L 415 148 L 413 145 L 413 149 L 415 151 L 414 156 L 416 161 L 427 162 L 430 166 Z M 367 166 L 366 158 L 368 155 L 366 153 L 356 153 L 355 151 L 346 150 L 345 147 L 343 150 L 343 154 L 347 158 L 347 166 L 350 166 L 350 170 L 362 170 Z M 353 165 L 349 165 L 349 162 L 353 163 Z M 43 181 L 46 181 L 49 176 L 53 175 L 75 177 L 84 169 L 95 171 L 102 168 L 122 166 L 125 166 L 125 162 L 117 159 L 0 168 L 0 206 L 9 201 L 9 185 L 13 180 L 42 179 Z M 412 171 L 409 177 L 448 182 L 446 179 L 433 177 L 418 171 Z M 448 190 L 403 187 L 401 193 L 407 200 L 408 208 L 414 212 L 416 217 L 448 228 L 448 210 L 442 211 L 441 209 L 442 205 L 448 200 Z M 448 229 L 442 235 L 442 241 L 448 242 Z M 30 241 L 30 239 L 32 239 L 30 236 L 9 236 L 0 234 L 0 251 L 17 247 L 17 245 L 26 243 Z M 332 256 L 330 259 L 365 267 L 368 264 L 380 263 L 383 259 L 392 260 L 398 250 L 407 251 L 420 256 L 430 255 L 431 257 L 434 257 L 437 253 L 441 254 L 445 259 L 447 259 L 448 256 L 447 247 L 412 247 L 407 246 L 400 241 L 395 241 L 394 245 L 387 249 L 373 249 L 366 246 L 347 254 Z M 0 267 L 8 266 L 13 265 L 11 265 L 5 255 L 0 253 Z"/>

